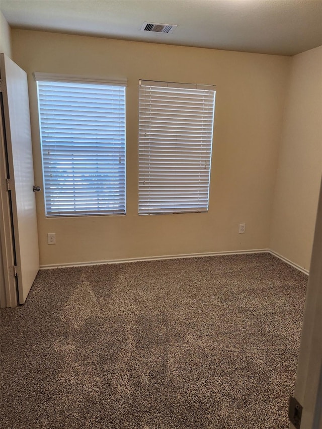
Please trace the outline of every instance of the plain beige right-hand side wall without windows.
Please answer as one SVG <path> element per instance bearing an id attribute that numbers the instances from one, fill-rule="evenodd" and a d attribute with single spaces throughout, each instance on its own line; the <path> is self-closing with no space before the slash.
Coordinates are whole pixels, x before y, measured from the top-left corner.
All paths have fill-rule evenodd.
<path id="1" fill-rule="evenodd" d="M 272 215 L 272 250 L 309 269 L 322 173 L 322 46 L 292 57 Z"/>

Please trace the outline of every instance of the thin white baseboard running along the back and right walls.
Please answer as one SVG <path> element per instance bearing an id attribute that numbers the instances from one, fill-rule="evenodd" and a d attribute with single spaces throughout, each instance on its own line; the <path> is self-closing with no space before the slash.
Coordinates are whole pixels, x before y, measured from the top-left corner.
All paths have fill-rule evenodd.
<path id="1" fill-rule="evenodd" d="M 188 254 L 174 254 L 174 255 L 162 255 L 162 256 L 144 256 L 143 258 L 128 258 L 128 259 L 112 259 L 106 261 L 89 261 L 89 262 L 79 262 L 79 263 L 67 263 L 67 264 L 50 264 L 50 265 L 41 265 L 40 270 L 51 270 L 54 268 L 68 268 L 68 267 L 88 267 L 91 265 L 105 265 L 105 264 L 124 264 L 129 262 L 140 262 L 140 261 L 161 261 L 165 259 L 184 259 L 184 258 L 203 258 L 205 256 L 222 256 L 229 254 L 252 254 L 252 253 L 271 253 L 297 270 L 301 271 L 304 274 L 308 275 L 308 271 L 300 267 L 297 264 L 294 264 L 284 256 L 274 252 L 271 249 L 249 249 L 249 250 L 231 250 L 223 252 L 207 252 L 207 253 L 188 253 Z"/>

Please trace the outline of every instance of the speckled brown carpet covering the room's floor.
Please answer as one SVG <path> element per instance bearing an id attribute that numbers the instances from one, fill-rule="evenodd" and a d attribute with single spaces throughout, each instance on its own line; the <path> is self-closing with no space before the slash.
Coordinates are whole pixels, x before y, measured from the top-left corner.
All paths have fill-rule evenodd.
<path id="1" fill-rule="evenodd" d="M 287 428 L 306 283 L 267 253 L 41 271 L 1 311 L 0 426 Z"/>

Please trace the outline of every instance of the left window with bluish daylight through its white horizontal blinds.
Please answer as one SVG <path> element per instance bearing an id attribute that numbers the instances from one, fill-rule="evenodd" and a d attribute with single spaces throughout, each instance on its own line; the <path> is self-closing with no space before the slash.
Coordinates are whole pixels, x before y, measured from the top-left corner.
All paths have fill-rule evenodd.
<path id="1" fill-rule="evenodd" d="M 34 73 L 46 216 L 125 213 L 125 82 Z"/>

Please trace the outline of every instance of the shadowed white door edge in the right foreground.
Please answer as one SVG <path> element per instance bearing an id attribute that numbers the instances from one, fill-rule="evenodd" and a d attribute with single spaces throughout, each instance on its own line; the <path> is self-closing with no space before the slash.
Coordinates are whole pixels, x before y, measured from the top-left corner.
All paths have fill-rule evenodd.
<path id="1" fill-rule="evenodd" d="M 290 338 L 290 341 L 292 338 Z M 303 407 L 290 428 L 322 429 L 322 184 L 306 293 L 294 397 Z M 296 412 L 295 412 L 296 413 Z M 293 410 L 291 414 L 294 415 Z M 296 422 L 295 422 L 296 423 Z"/>

